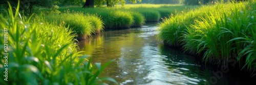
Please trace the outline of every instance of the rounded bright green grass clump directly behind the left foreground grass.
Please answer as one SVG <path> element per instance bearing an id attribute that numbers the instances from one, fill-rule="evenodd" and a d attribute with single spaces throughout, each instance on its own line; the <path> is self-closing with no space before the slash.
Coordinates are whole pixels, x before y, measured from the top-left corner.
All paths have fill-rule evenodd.
<path id="1" fill-rule="evenodd" d="M 61 13 L 51 15 L 45 15 L 47 21 L 57 22 L 65 24 L 69 27 L 75 34 L 78 35 L 76 39 L 84 40 L 92 34 L 98 34 L 103 30 L 103 22 L 96 15 L 84 15 L 82 13 Z"/>

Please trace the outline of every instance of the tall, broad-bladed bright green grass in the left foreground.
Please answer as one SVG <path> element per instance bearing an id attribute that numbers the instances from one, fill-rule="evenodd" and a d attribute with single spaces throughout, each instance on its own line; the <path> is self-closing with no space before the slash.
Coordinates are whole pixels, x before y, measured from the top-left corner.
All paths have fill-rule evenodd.
<path id="1" fill-rule="evenodd" d="M 117 83 L 109 77 L 98 78 L 113 61 L 91 65 L 77 51 L 76 35 L 65 24 L 47 22 L 43 16 L 27 18 L 18 9 L 0 14 L 0 84 Z"/>

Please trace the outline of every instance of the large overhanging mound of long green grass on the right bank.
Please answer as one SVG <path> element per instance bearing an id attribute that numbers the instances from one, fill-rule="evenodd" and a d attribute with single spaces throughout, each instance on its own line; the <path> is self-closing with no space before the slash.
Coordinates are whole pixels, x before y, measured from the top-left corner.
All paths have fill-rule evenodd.
<path id="1" fill-rule="evenodd" d="M 164 20 L 157 38 L 189 53 L 202 53 L 204 62 L 238 66 L 253 72 L 256 70 L 255 9 L 255 0 L 203 6 Z"/>

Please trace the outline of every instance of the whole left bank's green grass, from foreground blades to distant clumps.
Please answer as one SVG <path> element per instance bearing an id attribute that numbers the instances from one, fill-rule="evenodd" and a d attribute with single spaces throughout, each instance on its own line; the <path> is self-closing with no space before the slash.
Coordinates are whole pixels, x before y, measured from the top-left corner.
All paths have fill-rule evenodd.
<path id="1" fill-rule="evenodd" d="M 41 9 L 41 13 L 35 11 L 36 14 L 27 16 L 26 13 L 19 14 L 18 7 L 15 11 L 9 7 L 7 12 L 0 14 L 3 28 L 1 32 L 7 32 L 7 35 L 0 35 L 0 44 L 2 48 L 8 45 L 6 52 L 1 48 L 3 59 L 0 62 L 0 71 L 1 75 L 5 75 L 5 71 L 9 73 L 7 82 L 6 77 L 1 77 L 1 84 L 101 84 L 104 83 L 102 80 L 117 83 L 109 77 L 98 78 L 103 69 L 113 61 L 103 66 L 100 63 L 92 65 L 86 55 L 81 55 L 82 51 L 78 51 L 74 43 L 76 39 L 87 39 L 100 33 L 104 27 L 141 26 L 145 20 L 158 21 L 160 17 L 186 9 L 179 5 L 131 5 L 124 8 L 125 10 L 121 10 L 121 6 L 86 10 L 68 7 L 60 8 L 60 11 Z M 167 10 L 166 7 L 173 10 Z M 145 15 L 151 12 L 145 10 L 154 12 L 152 15 Z M 8 64 L 4 58 L 6 55 Z"/>

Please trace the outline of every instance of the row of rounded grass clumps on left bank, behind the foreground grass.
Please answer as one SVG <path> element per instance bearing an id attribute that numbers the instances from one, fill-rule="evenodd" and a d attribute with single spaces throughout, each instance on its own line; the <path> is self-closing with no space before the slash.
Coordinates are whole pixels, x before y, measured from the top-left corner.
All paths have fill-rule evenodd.
<path id="1" fill-rule="evenodd" d="M 50 22 L 65 24 L 78 36 L 77 40 L 84 40 L 93 34 L 106 29 L 125 29 L 139 27 L 145 22 L 158 22 L 178 12 L 188 11 L 197 6 L 184 5 L 125 5 L 114 8 L 81 8 L 60 7 L 56 12 L 44 15 Z M 49 10 L 42 10 L 43 12 Z M 47 13 L 47 12 L 46 12 Z M 56 17 L 56 15 L 58 15 Z"/>

